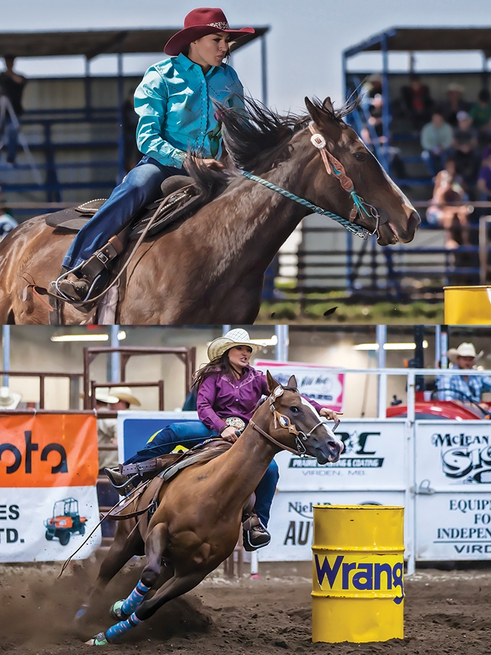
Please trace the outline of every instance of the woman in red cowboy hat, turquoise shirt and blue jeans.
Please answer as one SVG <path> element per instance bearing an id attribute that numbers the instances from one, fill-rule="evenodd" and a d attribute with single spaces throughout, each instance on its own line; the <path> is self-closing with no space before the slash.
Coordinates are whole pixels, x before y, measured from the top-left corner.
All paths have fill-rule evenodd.
<path id="1" fill-rule="evenodd" d="M 184 29 L 166 44 L 171 58 L 144 74 L 135 91 L 139 115 L 137 145 L 142 160 L 114 189 L 111 197 L 76 235 L 63 260 L 58 284 L 68 298 L 85 300 L 93 282 L 83 264 L 119 232 L 134 213 L 159 197 L 163 180 L 186 175 L 182 168 L 189 148 L 207 163 L 220 156 L 220 125 L 213 102 L 243 106 L 243 86 L 224 63 L 229 42 L 252 27 L 230 29 L 221 9 L 200 8 L 184 19 Z"/>

